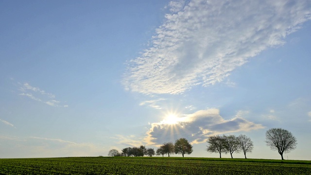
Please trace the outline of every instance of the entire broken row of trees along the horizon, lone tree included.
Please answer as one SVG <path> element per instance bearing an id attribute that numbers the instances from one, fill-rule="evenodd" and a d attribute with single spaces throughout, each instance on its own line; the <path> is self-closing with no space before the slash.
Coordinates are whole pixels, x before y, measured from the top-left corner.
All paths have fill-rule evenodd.
<path id="1" fill-rule="evenodd" d="M 296 138 L 292 135 L 291 132 L 282 129 L 282 128 L 272 128 L 266 132 L 266 144 L 272 149 L 277 150 L 281 155 L 282 160 L 283 153 L 288 153 L 291 150 L 294 150 L 297 145 Z M 233 158 L 232 154 L 235 153 L 244 153 L 244 157 L 246 158 L 246 153 L 251 153 L 254 148 L 253 141 L 245 136 L 245 135 L 214 135 L 209 136 L 207 139 L 207 152 L 211 153 L 219 153 L 220 158 L 222 157 L 222 153 L 227 154 L 230 153 L 231 158 Z M 180 138 L 173 142 L 163 143 L 159 148 L 157 148 L 156 152 L 153 148 L 146 148 L 141 145 L 140 147 L 127 147 L 122 149 L 120 153 L 116 149 L 112 149 L 109 151 L 108 156 L 123 156 L 123 157 L 138 157 L 138 156 L 157 156 L 162 155 L 170 155 L 172 154 L 181 154 L 183 157 L 185 154 L 191 154 L 193 152 L 192 145 L 185 138 Z"/>

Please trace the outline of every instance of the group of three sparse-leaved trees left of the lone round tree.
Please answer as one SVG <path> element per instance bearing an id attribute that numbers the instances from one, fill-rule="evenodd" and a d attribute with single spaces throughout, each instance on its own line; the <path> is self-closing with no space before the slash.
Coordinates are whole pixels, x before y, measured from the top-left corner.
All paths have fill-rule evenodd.
<path id="1" fill-rule="evenodd" d="M 253 141 L 245 136 L 235 136 L 235 135 L 215 135 L 208 137 L 207 140 L 207 152 L 211 153 L 219 153 L 220 158 L 222 157 L 222 153 L 230 153 L 231 158 L 234 152 L 240 153 L 243 151 L 244 156 L 246 158 L 247 152 L 252 152 L 254 148 Z"/>

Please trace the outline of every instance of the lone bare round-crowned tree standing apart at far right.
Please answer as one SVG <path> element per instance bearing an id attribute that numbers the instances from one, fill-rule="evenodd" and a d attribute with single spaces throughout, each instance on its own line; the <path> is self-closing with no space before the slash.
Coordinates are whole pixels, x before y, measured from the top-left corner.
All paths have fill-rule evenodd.
<path id="1" fill-rule="evenodd" d="M 294 150 L 297 145 L 297 140 L 291 132 L 282 128 L 272 128 L 266 132 L 266 143 L 272 150 L 277 150 L 281 155 Z"/>

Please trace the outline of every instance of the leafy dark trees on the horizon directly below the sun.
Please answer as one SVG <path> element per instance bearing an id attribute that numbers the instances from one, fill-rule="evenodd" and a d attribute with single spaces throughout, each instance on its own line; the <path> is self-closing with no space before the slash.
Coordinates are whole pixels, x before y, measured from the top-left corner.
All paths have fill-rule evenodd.
<path id="1" fill-rule="evenodd" d="M 185 138 L 180 138 L 175 140 L 175 144 L 172 142 L 163 143 L 157 150 L 156 155 L 164 157 L 167 154 L 170 157 L 170 154 L 181 154 L 183 157 L 185 154 L 190 155 L 193 151 L 192 145 Z"/>

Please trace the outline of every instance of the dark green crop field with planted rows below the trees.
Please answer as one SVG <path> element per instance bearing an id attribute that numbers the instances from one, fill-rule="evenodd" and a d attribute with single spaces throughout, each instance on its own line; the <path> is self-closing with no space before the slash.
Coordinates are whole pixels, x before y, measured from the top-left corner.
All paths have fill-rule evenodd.
<path id="1" fill-rule="evenodd" d="M 2 174 L 311 175 L 311 161 L 189 157 L 2 158 Z"/>

